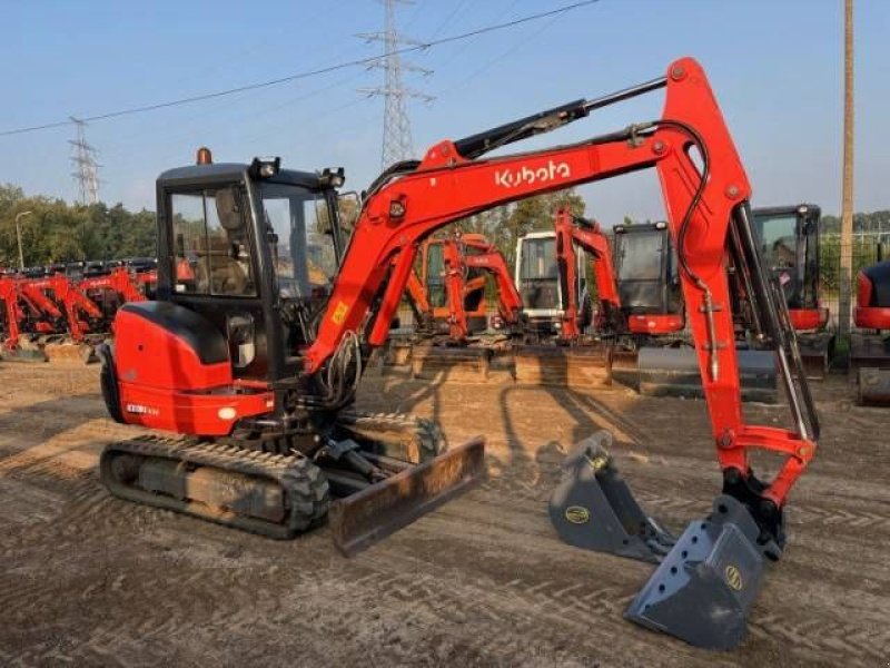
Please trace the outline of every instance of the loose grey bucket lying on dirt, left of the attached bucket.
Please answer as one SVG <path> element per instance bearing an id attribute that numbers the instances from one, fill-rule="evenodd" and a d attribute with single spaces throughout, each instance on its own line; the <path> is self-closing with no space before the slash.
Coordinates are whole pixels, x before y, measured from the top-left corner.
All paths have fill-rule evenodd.
<path id="1" fill-rule="evenodd" d="M 657 563 L 675 539 L 636 503 L 606 450 L 611 443 L 601 431 L 568 454 L 550 500 L 551 521 L 575 547 Z"/>

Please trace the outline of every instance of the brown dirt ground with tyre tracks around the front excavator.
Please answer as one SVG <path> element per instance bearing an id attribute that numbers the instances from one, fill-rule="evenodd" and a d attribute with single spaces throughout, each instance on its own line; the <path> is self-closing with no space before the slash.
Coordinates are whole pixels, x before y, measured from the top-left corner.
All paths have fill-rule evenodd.
<path id="1" fill-rule="evenodd" d="M 488 438 L 488 480 L 358 557 L 322 528 L 274 542 L 109 497 L 98 370 L 0 366 L 0 664 L 4 666 L 890 665 L 890 410 L 817 389 L 821 450 L 792 494 L 744 644 L 693 649 L 626 622 L 652 567 L 557 540 L 562 454 L 599 429 L 674 530 L 719 488 L 704 404 L 623 389 L 368 377 L 360 407 Z M 749 406 L 782 423 L 782 406 Z"/>

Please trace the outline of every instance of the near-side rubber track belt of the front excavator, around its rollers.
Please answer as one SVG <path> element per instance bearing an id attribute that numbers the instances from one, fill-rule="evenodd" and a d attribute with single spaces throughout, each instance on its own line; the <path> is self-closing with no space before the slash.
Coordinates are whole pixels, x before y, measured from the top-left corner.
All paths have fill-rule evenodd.
<path id="1" fill-rule="evenodd" d="M 126 454 L 208 466 L 277 483 L 285 493 L 285 520 L 275 523 L 239 515 L 229 510 L 214 509 L 198 502 L 157 494 L 122 483 L 113 473 L 112 460 Z M 294 538 L 318 524 L 327 515 L 330 505 L 328 482 L 324 472 L 303 455 L 258 452 L 184 436 L 145 435 L 107 445 L 99 460 L 99 466 L 102 484 L 116 497 L 279 540 Z"/>

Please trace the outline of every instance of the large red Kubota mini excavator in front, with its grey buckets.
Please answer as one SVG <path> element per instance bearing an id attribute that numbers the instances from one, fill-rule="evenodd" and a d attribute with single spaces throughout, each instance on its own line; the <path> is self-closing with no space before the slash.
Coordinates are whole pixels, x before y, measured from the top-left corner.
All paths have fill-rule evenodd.
<path id="1" fill-rule="evenodd" d="M 483 158 L 659 89 L 665 102 L 655 120 Z M 751 186 L 698 62 L 678 60 L 664 77 L 444 140 L 419 161 L 392 166 L 369 186 L 339 252 L 342 173 L 283 170 L 277 159 L 210 165 L 202 153 L 204 164 L 160 177 L 158 301 L 125 305 L 113 352 L 102 353 L 111 414 L 171 433 L 106 448 L 101 477 L 113 493 L 278 537 L 312 527 L 329 508 L 335 534 L 358 536 L 358 544 L 418 517 L 478 475 L 482 444 L 406 463 L 411 453 L 394 458 L 395 446 L 411 450 L 416 439 L 390 446 L 375 428 L 392 433 L 395 424 L 363 422 L 348 406 L 367 348 L 386 342 L 423 239 L 498 205 L 652 168 L 678 248 L 723 493 L 671 548 L 629 502 L 607 454 L 587 442 L 566 462 L 551 517 L 566 540 L 614 538 L 595 547 L 661 561 L 630 619 L 701 646 L 739 642 L 763 560 L 781 554 L 783 508 L 815 452 L 819 425 L 788 313 L 760 262 Z M 318 207 L 328 214 L 314 218 Z M 323 236 L 332 242 L 323 255 L 330 282 L 318 284 L 309 281 L 307 248 Z M 744 262 L 775 341 L 792 430 L 742 415 L 728 254 Z M 194 281 L 176 278 L 180 261 L 194 266 Z M 754 475 L 752 450 L 782 458 L 774 479 Z M 332 491 L 343 498 L 329 505 Z"/>

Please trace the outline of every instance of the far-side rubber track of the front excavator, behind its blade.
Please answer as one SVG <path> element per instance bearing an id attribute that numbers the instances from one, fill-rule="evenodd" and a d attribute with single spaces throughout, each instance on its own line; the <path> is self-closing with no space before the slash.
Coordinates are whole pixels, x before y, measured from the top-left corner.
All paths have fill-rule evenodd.
<path id="1" fill-rule="evenodd" d="M 382 444 L 383 454 L 412 463 L 433 459 L 448 449 L 445 435 L 435 422 L 405 413 L 344 411 L 337 415 L 337 426 L 357 440 Z"/>

